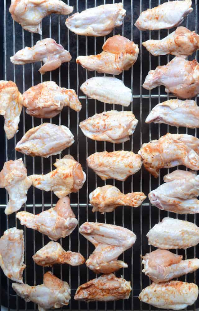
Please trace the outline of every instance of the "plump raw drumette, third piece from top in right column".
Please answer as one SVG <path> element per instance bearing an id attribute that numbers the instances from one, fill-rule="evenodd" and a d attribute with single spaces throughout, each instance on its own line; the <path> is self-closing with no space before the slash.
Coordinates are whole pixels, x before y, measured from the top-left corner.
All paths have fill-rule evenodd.
<path id="1" fill-rule="evenodd" d="M 152 90 L 157 86 L 164 85 L 165 92 L 187 99 L 199 93 L 198 77 L 199 63 L 196 59 L 188 61 L 176 56 L 167 65 L 150 70 L 143 87 L 146 90 Z"/>

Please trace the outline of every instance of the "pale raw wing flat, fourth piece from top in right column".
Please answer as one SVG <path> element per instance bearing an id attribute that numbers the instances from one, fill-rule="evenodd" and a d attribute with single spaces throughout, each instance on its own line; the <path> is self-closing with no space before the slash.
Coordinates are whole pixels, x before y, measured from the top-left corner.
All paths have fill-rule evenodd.
<path id="1" fill-rule="evenodd" d="M 167 100 L 157 104 L 151 110 L 145 122 L 199 128 L 199 107 L 194 100 Z"/>

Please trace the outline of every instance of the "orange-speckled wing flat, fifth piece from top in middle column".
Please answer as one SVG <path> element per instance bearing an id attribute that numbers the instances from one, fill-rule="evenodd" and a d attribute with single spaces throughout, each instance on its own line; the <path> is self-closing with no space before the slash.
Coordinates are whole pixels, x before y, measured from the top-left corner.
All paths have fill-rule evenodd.
<path id="1" fill-rule="evenodd" d="M 141 169 L 141 156 L 132 151 L 95 152 L 87 159 L 88 166 L 102 180 L 117 179 L 124 181 Z"/>

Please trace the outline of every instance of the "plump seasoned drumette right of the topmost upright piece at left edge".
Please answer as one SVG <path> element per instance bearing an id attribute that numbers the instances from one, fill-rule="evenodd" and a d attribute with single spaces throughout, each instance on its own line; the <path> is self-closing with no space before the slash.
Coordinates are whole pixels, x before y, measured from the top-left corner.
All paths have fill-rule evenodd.
<path id="1" fill-rule="evenodd" d="M 81 103 L 74 90 L 59 87 L 53 81 L 46 81 L 30 87 L 23 93 L 26 113 L 36 118 L 53 118 L 63 107 L 81 110 Z"/>

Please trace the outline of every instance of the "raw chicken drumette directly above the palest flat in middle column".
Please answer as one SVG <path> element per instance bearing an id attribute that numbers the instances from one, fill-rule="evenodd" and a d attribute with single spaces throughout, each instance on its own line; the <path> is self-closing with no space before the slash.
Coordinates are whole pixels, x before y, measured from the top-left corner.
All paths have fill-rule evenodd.
<path id="1" fill-rule="evenodd" d="M 102 49 L 97 55 L 77 57 L 76 63 L 89 71 L 119 75 L 132 67 L 139 53 L 137 44 L 120 35 L 107 39 Z"/>

